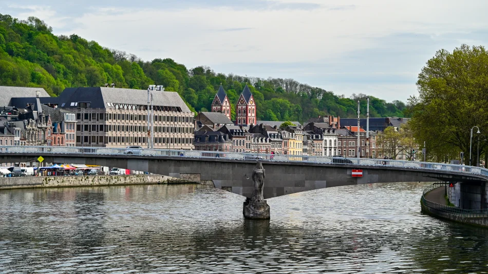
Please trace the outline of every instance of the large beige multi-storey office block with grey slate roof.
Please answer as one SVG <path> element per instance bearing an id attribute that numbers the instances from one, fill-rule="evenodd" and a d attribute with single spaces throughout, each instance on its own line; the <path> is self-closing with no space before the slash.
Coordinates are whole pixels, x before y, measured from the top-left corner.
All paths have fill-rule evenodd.
<path id="1" fill-rule="evenodd" d="M 147 90 L 66 88 L 57 106 L 76 113 L 76 145 L 147 147 Z M 52 99 L 50 99 L 52 101 Z M 153 91 L 154 148 L 193 149 L 193 113 L 176 92 Z"/>

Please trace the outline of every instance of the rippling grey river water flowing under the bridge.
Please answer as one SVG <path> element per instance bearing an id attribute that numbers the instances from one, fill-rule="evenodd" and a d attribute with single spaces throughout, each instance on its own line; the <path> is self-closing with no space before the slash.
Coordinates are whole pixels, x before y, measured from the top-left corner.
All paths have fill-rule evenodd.
<path id="1" fill-rule="evenodd" d="M 425 186 L 286 195 L 270 221 L 203 185 L 0 191 L 0 273 L 488 271 L 488 229 L 421 214 Z"/>

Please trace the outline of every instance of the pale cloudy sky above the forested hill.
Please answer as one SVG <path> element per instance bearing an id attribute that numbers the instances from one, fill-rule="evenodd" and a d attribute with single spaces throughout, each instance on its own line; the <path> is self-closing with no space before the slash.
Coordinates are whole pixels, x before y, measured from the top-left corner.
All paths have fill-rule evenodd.
<path id="1" fill-rule="evenodd" d="M 41 3 L 42 2 L 42 3 Z M 0 0 L 0 13 L 36 16 L 144 61 L 292 78 L 349 97 L 417 95 L 436 51 L 488 42 L 488 1 Z"/>

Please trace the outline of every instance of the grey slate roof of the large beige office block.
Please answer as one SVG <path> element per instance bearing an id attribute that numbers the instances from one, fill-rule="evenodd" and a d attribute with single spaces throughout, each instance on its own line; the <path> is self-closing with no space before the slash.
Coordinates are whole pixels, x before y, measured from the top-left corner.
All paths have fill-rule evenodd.
<path id="1" fill-rule="evenodd" d="M 63 108 L 77 108 L 71 103 L 90 102 L 90 108 L 115 108 L 111 104 L 147 105 L 147 90 L 108 87 L 66 88 L 58 96 L 58 103 Z M 65 105 L 63 106 L 63 103 Z M 183 112 L 190 112 L 177 92 L 153 91 L 155 106 L 180 107 Z"/>

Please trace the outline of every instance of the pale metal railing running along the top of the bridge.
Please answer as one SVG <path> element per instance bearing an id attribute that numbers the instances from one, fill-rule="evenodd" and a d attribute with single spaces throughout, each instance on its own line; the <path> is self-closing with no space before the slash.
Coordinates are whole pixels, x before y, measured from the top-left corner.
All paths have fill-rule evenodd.
<path id="1" fill-rule="evenodd" d="M 104 148 L 104 147 L 56 147 L 56 146 L 0 146 L 2 153 L 27 154 L 96 154 L 96 155 L 145 155 L 145 156 L 179 156 L 184 158 L 220 158 L 242 161 L 269 161 L 269 162 L 307 162 L 317 164 L 344 164 L 360 166 L 391 166 L 412 169 L 428 169 L 455 171 L 461 173 L 474 173 L 488 176 L 488 169 L 464 165 L 451 165 L 442 163 L 416 162 L 389 159 L 345 158 L 343 156 L 308 156 L 290 154 L 262 154 L 244 152 L 198 151 L 176 149 L 131 149 L 131 148 Z"/>

